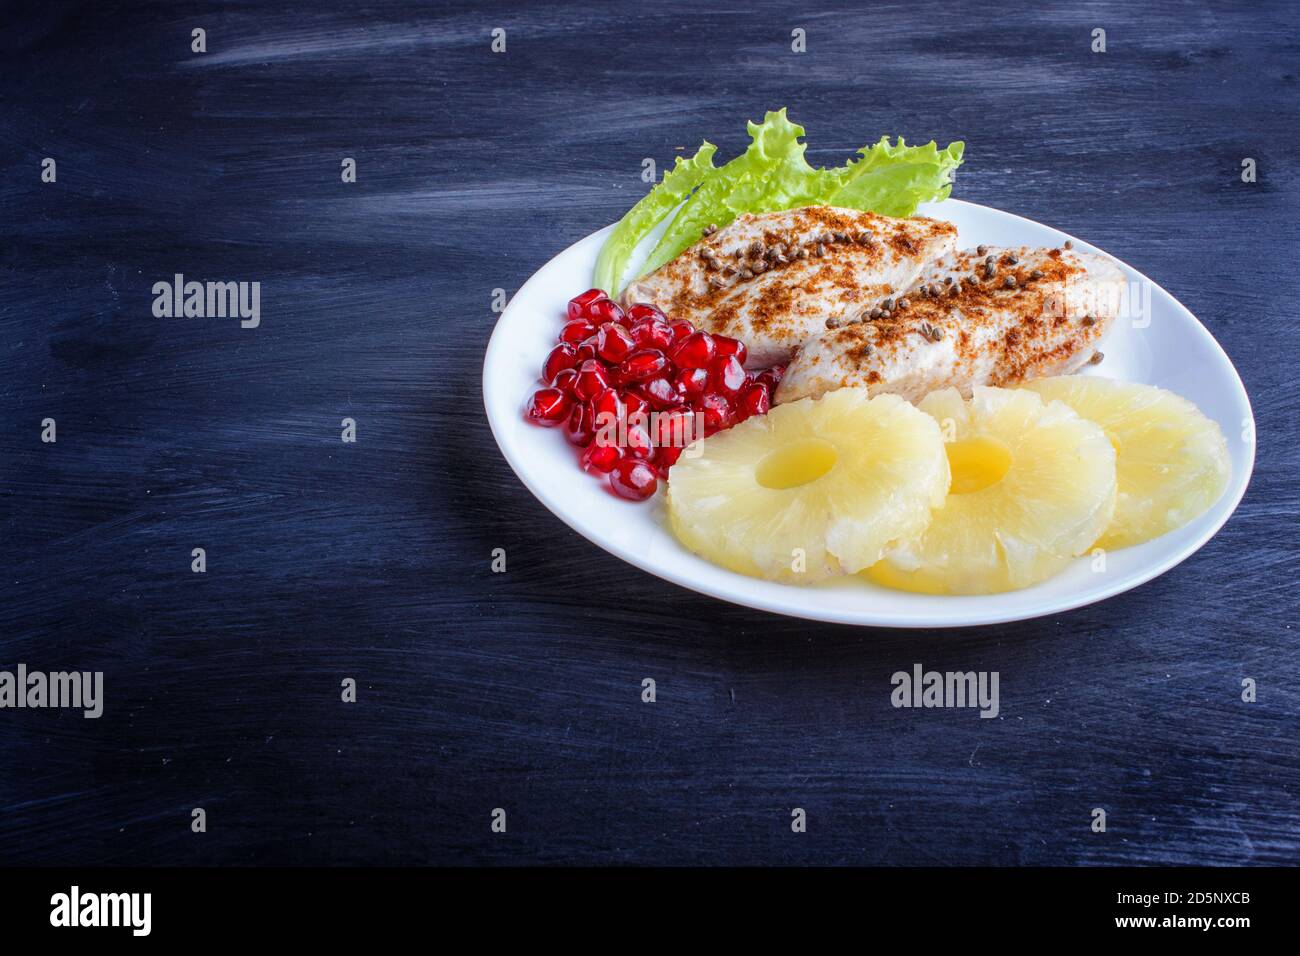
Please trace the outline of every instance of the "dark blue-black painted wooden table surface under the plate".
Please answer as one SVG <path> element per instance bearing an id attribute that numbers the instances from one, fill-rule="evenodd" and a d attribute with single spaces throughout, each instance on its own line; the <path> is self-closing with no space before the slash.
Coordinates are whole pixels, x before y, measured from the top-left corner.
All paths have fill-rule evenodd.
<path id="1" fill-rule="evenodd" d="M 711 7 L 9 10 L 0 669 L 107 700 L 0 710 L 0 861 L 1296 861 L 1295 5 Z M 892 632 L 689 593 L 534 501 L 482 412 L 493 290 L 781 105 L 818 164 L 965 139 L 957 195 L 1200 316 L 1258 420 L 1227 527 L 1101 605 Z M 260 281 L 259 328 L 155 317 L 176 273 Z M 915 662 L 998 671 L 1000 718 L 893 709 Z"/>

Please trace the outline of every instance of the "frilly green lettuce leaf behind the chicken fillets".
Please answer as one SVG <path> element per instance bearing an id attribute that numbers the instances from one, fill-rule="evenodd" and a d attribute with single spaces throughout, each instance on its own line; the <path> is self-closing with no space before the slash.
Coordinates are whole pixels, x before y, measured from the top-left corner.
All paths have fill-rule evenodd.
<path id="1" fill-rule="evenodd" d="M 784 109 L 767 113 L 762 124 L 750 122 L 748 129 L 749 147 L 723 166 L 712 166 L 714 150 L 707 143 L 706 163 L 698 163 L 701 153 L 693 160 L 677 160 L 677 168 L 623 217 L 606 241 L 597 261 L 597 286 L 611 295 L 621 290 L 632 251 L 677 203 L 681 208 L 638 274 L 654 272 L 679 256 L 708 225 L 722 229 L 742 212 L 824 204 L 910 216 L 926 200 L 948 198 L 965 148 L 959 142 L 945 150 L 933 142 L 907 146 L 902 137 L 890 144 L 888 137 L 881 137 L 874 146 L 862 147 L 859 159 L 815 169 L 803 157 L 807 150 L 801 142 L 803 127 L 790 122 Z M 670 185 L 686 164 L 696 165 Z"/>

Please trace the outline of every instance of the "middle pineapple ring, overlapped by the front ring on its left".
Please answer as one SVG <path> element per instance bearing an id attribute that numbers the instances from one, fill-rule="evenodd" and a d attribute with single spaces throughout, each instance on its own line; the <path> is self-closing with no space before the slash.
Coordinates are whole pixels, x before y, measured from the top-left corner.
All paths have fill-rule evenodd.
<path id="1" fill-rule="evenodd" d="M 956 389 L 922 399 L 944 429 L 952 490 L 919 536 L 866 576 L 930 594 L 992 594 L 1037 584 L 1092 545 L 1115 505 L 1105 433 L 1034 392 Z"/>

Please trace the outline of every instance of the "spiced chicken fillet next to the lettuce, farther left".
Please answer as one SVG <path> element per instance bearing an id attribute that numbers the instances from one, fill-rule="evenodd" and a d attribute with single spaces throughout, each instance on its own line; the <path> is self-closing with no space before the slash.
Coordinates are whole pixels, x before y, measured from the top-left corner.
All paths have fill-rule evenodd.
<path id="1" fill-rule="evenodd" d="M 623 293 L 749 347 L 754 368 L 911 285 L 957 245 L 957 228 L 833 206 L 745 213 Z"/>

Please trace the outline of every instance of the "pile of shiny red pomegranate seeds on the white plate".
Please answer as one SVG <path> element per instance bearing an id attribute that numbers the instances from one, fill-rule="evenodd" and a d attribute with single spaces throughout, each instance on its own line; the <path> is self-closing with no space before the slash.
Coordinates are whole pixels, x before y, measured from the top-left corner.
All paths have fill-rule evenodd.
<path id="1" fill-rule="evenodd" d="M 582 449 L 582 471 L 645 501 L 692 441 L 771 408 L 785 368 L 746 372 L 745 355 L 738 339 L 670 321 L 654 306 L 624 311 L 589 289 L 569 299 L 525 416 L 562 425 Z"/>

